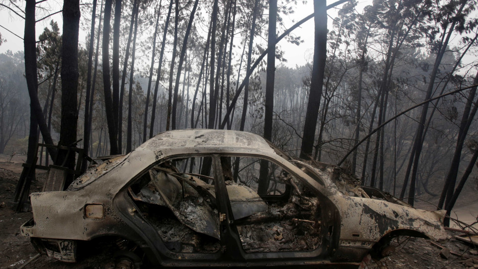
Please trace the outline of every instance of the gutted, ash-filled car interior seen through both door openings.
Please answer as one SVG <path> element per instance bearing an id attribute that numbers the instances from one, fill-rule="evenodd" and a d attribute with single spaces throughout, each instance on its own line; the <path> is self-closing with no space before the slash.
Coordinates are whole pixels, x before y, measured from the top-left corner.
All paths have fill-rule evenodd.
<path id="1" fill-rule="evenodd" d="M 218 158 L 220 167 L 212 156 L 163 160 L 129 186 L 129 196 L 170 251 L 220 251 L 217 178 L 226 184 L 245 253 L 313 251 L 331 235 L 321 225 L 320 199 L 287 169 L 257 156 Z"/>

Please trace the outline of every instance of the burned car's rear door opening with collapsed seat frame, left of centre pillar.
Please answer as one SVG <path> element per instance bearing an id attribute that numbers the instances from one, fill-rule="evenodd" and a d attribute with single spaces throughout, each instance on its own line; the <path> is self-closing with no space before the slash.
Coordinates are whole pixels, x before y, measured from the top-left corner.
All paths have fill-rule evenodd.
<path id="1" fill-rule="evenodd" d="M 204 161 L 203 157 L 200 159 Z M 199 179 L 212 182 L 214 178 L 194 170 L 180 173 L 177 167 L 185 167 L 185 162 L 185 159 L 165 161 L 154 166 L 128 192 L 170 251 L 215 253 L 220 243 L 216 201 L 210 194 L 214 188 L 209 188 L 214 185 Z"/>

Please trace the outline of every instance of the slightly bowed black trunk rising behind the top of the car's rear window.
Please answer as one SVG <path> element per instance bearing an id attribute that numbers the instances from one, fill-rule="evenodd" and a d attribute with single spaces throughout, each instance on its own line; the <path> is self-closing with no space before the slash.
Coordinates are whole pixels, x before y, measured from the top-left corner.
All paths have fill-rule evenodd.
<path id="1" fill-rule="evenodd" d="M 110 154 L 118 154 L 118 132 L 115 127 L 115 114 L 113 112 L 113 100 L 111 95 L 110 82 L 110 21 L 111 6 L 113 0 L 105 1 L 105 22 L 103 26 L 103 90 L 105 92 L 106 121 L 108 123 L 108 134 L 110 136 Z"/>

